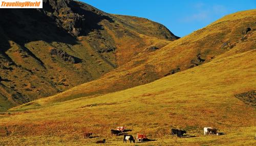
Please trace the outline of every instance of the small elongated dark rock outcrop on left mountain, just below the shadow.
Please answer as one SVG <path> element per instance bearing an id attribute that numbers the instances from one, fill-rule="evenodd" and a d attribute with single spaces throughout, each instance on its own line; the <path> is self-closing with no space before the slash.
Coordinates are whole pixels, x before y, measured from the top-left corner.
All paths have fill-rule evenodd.
<path id="1" fill-rule="evenodd" d="M 52 50 L 50 51 L 50 54 L 58 56 L 63 61 L 68 61 L 70 63 L 76 63 L 75 58 L 73 56 L 71 56 L 67 52 L 59 50 L 57 48 L 52 48 Z"/>

